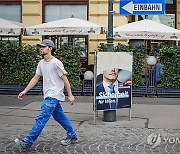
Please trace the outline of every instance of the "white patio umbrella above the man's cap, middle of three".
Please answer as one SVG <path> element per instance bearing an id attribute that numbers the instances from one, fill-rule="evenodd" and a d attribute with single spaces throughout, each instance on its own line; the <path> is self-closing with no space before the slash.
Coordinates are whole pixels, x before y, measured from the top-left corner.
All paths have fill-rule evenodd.
<path id="1" fill-rule="evenodd" d="M 66 18 L 26 28 L 27 35 L 88 35 L 99 34 L 101 27 L 87 20 Z"/>

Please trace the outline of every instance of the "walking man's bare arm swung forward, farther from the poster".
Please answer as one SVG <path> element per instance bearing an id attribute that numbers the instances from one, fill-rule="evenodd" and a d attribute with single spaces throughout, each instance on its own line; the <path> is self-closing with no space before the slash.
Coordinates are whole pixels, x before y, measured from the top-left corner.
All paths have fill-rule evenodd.
<path id="1" fill-rule="evenodd" d="M 38 74 L 35 74 L 31 81 L 28 83 L 27 87 L 19 93 L 18 98 L 23 99 L 23 96 L 26 95 L 26 93 L 35 86 L 35 84 L 39 81 L 39 78 L 40 76 Z"/>

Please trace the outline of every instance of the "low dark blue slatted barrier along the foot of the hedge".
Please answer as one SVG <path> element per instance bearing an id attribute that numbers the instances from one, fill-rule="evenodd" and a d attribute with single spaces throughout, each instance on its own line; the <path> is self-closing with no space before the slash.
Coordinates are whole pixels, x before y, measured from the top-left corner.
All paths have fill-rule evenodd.
<path id="1" fill-rule="evenodd" d="M 4 85 L 0 84 L 0 94 L 11 94 L 17 95 L 21 92 L 25 86 L 19 85 Z M 64 91 L 67 95 L 66 90 Z M 83 80 L 82 85 L 79 85 L 72 89 L 73 95 L 75 96 L 92 96 L 93 95 L 93 81 Z M 39 95 L 42 94 L 42 85 L 36 85 L 32 88 L 28 94 Z M 157 96 L 157 97 L 174 97 L 180 98 L 180 88 L 161 88 L 157 87 L 156 93 L 154 87 L 140 86 L 132 89 L 133 97 L 146 97 L 146 96 Z"/>

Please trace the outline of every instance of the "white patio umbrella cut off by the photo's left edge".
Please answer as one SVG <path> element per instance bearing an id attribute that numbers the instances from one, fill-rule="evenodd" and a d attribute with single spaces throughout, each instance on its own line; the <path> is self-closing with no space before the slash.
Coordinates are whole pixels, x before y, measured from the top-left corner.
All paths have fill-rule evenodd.
<path id="1" fill-rule="evenodd" d="M 0 36 L 18 36 L 24 27 L 22 23 L 0 18 Z"/>

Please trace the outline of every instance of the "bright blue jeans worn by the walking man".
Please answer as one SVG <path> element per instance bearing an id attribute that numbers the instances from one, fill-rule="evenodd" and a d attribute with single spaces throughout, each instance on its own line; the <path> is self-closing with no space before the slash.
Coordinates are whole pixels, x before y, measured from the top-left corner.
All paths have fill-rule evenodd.
<path id="1" fill-rule="evenodd" d="M 64 114 L 60 101 L 55 98 L 47 97 L 42 101 L 41 110 L 35 119 L 32 129 L 24 138 L 27 144 L 32 145 L 35 142 L 51 115 L 66 130 L 67 137 L 71 138 L 76 134 L 71 122 Z"/>

